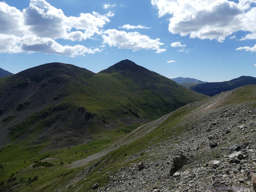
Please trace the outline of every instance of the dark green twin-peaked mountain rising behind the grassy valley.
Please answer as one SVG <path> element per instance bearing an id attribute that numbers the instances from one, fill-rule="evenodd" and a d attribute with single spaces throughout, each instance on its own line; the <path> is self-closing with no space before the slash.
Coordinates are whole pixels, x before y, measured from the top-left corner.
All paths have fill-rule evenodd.
<path id="1" fill-rule="evenodd" d="M 207 96 L 123 60 L 99 73 L 50 63 L 0 79 L 0 145 L 61 148 L 122 134 Z"/>

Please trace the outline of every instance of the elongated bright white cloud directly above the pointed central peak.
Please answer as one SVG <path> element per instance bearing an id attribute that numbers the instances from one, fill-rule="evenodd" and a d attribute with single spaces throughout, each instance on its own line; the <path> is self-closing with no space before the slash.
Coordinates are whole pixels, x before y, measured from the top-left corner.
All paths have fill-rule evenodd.
<path id="1" fill-rule="evenodd" d="M 119 49 L 152 49 L 156 50 L 156 53 L 166 51 L 166 49 L 160 48 L 160 46 L 164 44 L 160 42 L 159 38 L 150 39 L 150 37 L 138 32 L 125 32 L 109 29 L 103 32 L 102 38 L 104 44 L 108 44 L 110 47 L 118 46 Z"/>

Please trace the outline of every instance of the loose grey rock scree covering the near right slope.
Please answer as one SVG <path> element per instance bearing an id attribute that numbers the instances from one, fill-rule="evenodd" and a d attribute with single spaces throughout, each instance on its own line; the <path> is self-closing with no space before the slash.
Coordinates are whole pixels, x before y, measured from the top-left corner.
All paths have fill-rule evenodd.
<path id="1" fill-rule="evenodd" d="M 254 191 L 256 103 L 224 103 L 232 94 L 190 104 L 196 110 L 176 125 L 186 127 L 182 134 L 125 157 L 125 162 L 133 163 L 116 174 L 108 172 L 106 186 L 92 188 L 98 192 Z M 136 162 L 141 156 L 143 161 Z"/>

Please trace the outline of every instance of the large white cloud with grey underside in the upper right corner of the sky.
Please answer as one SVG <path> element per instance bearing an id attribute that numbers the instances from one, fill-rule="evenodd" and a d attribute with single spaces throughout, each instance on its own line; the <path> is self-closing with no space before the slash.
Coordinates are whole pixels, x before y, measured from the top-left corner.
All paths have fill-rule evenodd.
<path id="1" fill-rule="evenodd" d="M 239 30 L 256 39 L 256 0 L 151 0 L 158 16 L 169 15 L 169 32 L 223 42 Z"/>

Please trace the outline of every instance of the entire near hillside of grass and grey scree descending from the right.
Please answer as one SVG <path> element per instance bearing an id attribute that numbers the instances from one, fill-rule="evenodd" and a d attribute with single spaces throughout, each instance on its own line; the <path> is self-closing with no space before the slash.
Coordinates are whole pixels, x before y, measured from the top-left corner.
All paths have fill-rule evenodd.
<path id="1" fill-rule="evenodd" d="M 126 155 L 113 159 L 114 153 L 107 154 L 89 166 L 89 172 L 86 167 L 80 178 L 56 191 L 92 190 L 93 184 L 98 192 L 211 192 L 221 186 L 233 192 L 252 191 L 256 86 L 188 104 L 155 124 L 151 132 L 121 145 L 115 152 Z M 137 152 L 130 153 L 129 145 Z M 97 184 L 97 176 L 108 182 Z"/>

